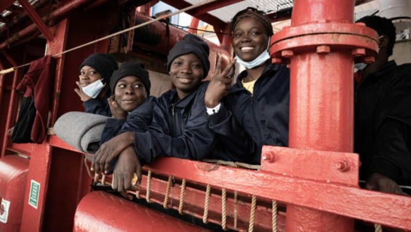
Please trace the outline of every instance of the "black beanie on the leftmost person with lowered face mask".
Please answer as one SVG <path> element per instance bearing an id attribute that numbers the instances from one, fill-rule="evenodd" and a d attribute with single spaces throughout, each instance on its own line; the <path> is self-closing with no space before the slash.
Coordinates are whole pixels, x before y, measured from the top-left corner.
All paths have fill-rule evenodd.
<path id="1" fill-rule="evenodd" d="M 114 55 L 101 52 L 89 55 L 80 65 L 80 69 L 84 65 L 96 69 L 107 84 L 110 84 L 110 77 L 111 74 L 113 74 L 113 71 L 119 68 Z"/>

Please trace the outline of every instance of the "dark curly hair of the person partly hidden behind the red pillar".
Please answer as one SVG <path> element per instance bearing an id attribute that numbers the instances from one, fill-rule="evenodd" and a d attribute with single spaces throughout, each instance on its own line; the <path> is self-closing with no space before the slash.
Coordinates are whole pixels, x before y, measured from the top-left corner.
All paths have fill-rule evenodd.
<path id="1" fill-rule="evenodd" d="M 365 23 L 367 27 L 377 31 L 379 36 L 386 35 L 388 37 L 387 55 L 390 56 L 393 54 L 393 48 L 396 38 L 396 28 L 393 22 L 391 22 L 387 18 L 372 15 L 360 18 L 357 23 Z"/>

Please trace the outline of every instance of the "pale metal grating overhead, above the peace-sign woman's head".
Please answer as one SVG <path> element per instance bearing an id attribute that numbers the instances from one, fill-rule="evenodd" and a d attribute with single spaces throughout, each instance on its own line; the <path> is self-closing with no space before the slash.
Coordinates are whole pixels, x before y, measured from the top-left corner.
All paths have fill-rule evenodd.
<path id="1" fill-rule="evenodd" d="M 203 0 L 185 0 L 192 5 L 203 2 Z M 240 10 L 247 7 L 254 7 L 266 13 L 277 12 L 278 10 L 292 7 L 294 0 L 245 0 L 226 7 L 222 7 L 208 12 L 209 14 L 218 17 L 223 22 L 230 22 L 231 18 Z"/>

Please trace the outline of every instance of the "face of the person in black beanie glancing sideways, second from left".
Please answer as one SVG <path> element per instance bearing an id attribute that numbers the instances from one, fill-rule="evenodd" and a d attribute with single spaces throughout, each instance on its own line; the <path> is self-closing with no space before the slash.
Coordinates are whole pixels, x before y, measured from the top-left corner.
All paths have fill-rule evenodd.
<path id="1" fill-rule="evenodd" d="M 120 79 L 116 84 L 114 94 L 117 104 L 127 112 L 140 106 L 146 98 L 143 82 L 136 76 L 124 76 Z"/>

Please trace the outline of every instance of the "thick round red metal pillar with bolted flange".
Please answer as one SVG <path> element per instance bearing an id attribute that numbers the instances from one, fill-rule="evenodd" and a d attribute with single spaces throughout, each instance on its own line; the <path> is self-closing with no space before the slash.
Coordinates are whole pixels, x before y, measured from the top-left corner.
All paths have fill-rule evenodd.
<path id="1" fill-rule="evenodd" d="M 377 37 L 353 24 L 353 9 L 353 0 L 295 1 L 291 27 L 272 38 L 273 62 L 286 60 L 291 67 L 291 148 L 353 151 L 353 60 L 375 54 Z M 288 205 L 286 226 L 287 231 L 352 231 L 353 219 Z"/>

